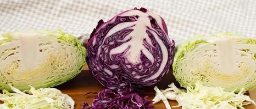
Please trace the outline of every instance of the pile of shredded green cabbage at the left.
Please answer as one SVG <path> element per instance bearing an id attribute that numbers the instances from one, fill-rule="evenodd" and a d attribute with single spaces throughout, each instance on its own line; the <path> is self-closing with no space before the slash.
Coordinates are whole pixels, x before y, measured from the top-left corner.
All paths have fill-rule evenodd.
<path id="1" fill-rule="evenodd" d="M 74 108 L 75 101 L 68 95 L 63 94 L 60 90 L 55 88 L 40 88 L 35 89 L 31 87 L 30 90 L 21 92 L 19 89 L 14 88 L 11 84 L 9 87 L 14 93 L 3 90 L 0 94 L 1 109 L 44 109 L 44 108 Z"/>

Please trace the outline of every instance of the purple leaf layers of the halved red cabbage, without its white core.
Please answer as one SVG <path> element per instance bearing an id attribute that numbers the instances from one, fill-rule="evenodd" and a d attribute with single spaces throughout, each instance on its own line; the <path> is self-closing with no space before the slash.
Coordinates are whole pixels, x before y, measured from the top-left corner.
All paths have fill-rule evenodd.
<path id="1" fill-rule="evenodd" d="M 143 13 L 147 12 L 147 9 L 144 9 L 144 8 L 137 9 L 137 10 L 140 10 Z M 124 11 L 123 13 L 126 13 L 127 11 Z M 149 59 L 147 59 L 146 56 L 144 56 L 143 53 L 141 53 L 141 56 L 140 56 L 143 63 L 136 64 L 136 65 L 133 65 L 131 63 L 126 63 L 125 62 L 126 59 L 123 57 L 120 57 L 121 54 L 114 55 L 112 57 L 113 60 L 109 57 L 109 51 L 111 49 L 115 48 L 116 46 L 120 46 L 121 44 L 124 44 L 127 41 L 130 41 L 131 39 L 126 40 L 124 42 L 118 42 L 115 40 L 124 39 L 126 35 L 131 33 L 133 30 L 123 29 L 119 32 L 112 34 L 109 38 L 107 38 L 103 42 L 105 35 L 107 35 L 110 29 L 112 29 L 116 25 L 119 25 L 120 23 L 124 23 L 124 22 L 136 21 L 136 18 L 138 17 L 140 16 L 116 15 L 115 17 L 113 17 L 107 22 L 103 22 L 103 20 L 100 20 L 98 22 L 97 27 L 93 30 L 90 36 L 90 39 L 88 40 L 86 61 L 87 61 L 89 70 L 93 75 L 93 77 L 97 78 L 97 80 L 107 88 L 124 89 L 125 87 L 131 87 L 131 86 L 136 86 L 136 87 L 152 86 L 153 84 L 162 80 L 162 78 L 168 73 L 170 69 L 170 65 L 173 61 L 173 52 L 174 52 L 174 46 L 175 46 L 174 40 L 170 41 L 164 20 L 161 18 L 162 24 L 158 24 L 152 16 L 149 16 L 151 25 L 154 28 L 154 31 L 157 32 L 158 37 L 163 41 L 164 45 L 168 49 L 168 62 L 166 63 L 164 71 L 162 71 L 162 74 L 160 76 L 158 76 L 154 80 L 149 80 L 146 82 L 142 81 L 154 75 L 154 73 L 159 69 L 159 64 L 162 63 L 162 51 L 159 49 L 160 48 L 159 44 L 157 43 L 157 41 L 154 39 L 153 35 L 149 31 L 146 31 L 146 32 L 148 34 L 148 37 L 151 38 L 154 46 L 151 47 L 152 49 L 149 49 L 150 47 L 147 45 L 147 42 L 145 40 L 142 43 L 149 51 L 152 52 L 155 58 L 154 63 L 151 63 Z M 162 30 L 159 27 L 159 25 L 163 25 L 164 29 Z M 96 43 L 93 44 L 93 40 L 96 40 L 95 41 Z M 110 42 L 114 44 L 110 45 L 109 44 Z M 103 47 L 100 48 L 102 52 L 98 55 L 97 51 L 100 45 L 102 45 Z M 107 49 L 108 51 L 105 52 L 103 49 Z M 112 65 L 112 64 L 119 65 L 119 68 L 118 69 L 110 68 L 109 65 Z M 127 68 L 126 65 L 128 64 L 130 64 L 132 68 Z M 141 69 L 138 68 L 139 65 L 142 65 L 145 70 L 140 71 Z M 113 76 L 107 75 L 107 73 L 103 70 L 103 68 L 112 71 Z M 136 74 L 136 75 L 147 75 L 147 76 L 137 79 L 137 78 L 134 78 L 133 77 L 134 75 L 131 74 L 132 71 L 140 72 L 139 74 Z M 122 83 L 125 85 L 121 86 L 120 84 Z"/>

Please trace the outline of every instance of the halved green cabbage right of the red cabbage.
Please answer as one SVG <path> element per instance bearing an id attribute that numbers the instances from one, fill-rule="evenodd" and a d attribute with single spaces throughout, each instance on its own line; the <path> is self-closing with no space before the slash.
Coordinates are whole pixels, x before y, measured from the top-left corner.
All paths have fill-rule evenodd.
<path id="1" fill-rule="evenodd" d="M 235 33 L 197 36 L 176 47 L 172 69 L 182 87 L 201 82 L 239 92 L 256 86 L 256 39 Z"/>

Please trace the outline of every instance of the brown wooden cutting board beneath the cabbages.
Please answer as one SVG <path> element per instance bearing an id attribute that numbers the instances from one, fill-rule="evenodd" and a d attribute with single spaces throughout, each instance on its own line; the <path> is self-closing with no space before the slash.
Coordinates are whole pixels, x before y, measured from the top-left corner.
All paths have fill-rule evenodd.
<path id="1" fill-rule="evenodd" d="M 179 86 L 179 83 L 175 80 L 174 76 L 170 72 L 168 75 L 164 77 L 162 81 L 156 84 L 159 89 L 168 88 L 168 84 L 174 82 L 176 86 Z M 142 95 L 148 96 L 148 100 L 152 100 L 155 95 L 155 91 L 153 89 L 154 86 L 151 87 L 144 87 Z M 96 94 L 89 94 L 84 95 L 88 92 L 100 92 L 104 87 L 91 76 L 88 72 L 87 66 L 85 66 L 84 70 L 77 75 L 75 78 L 71 79 L 70 81 L 63 83 L 55 88 L 62 90 L 63 93 L 70 95 L 75 100 L 75 108 L 80 109 L 83 102 L 87 102 L 89 104 L 92 103 L 92 100 L 96 96 Z M 251 92 L 250 92 L 251 93 Z M 256 90 L 252 93 L 256 93 Z M 247 93 L 249 95 L 249 93 Z M 255 100 L 255 99 L 253 99 Z M 169 100 L 171 106 L 176 106 L 178 103 L 174 100 Z M 162 101 L 154 104 L 155 108 L 164 109 L 165 106 Z M 246 109 L 253 109 L 255 108 L 254 105 L 247 105 L 245 106 Z M 176 109 L 180 109 L 176 108 Z"/>

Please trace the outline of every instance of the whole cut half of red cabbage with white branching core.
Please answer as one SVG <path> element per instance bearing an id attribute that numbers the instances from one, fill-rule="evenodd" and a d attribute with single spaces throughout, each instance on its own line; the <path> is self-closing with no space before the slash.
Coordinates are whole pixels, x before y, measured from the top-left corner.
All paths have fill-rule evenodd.
<path id="1" fill-rule="evenodd" d="M 91 74 L 109 89 L 151 86 L 168 73 L 174 45 L 162 17 L 135 8 L 98 22 L 86 61 Z"/>

